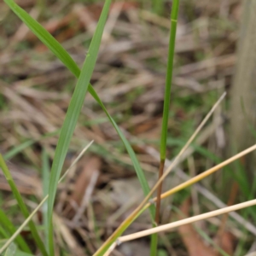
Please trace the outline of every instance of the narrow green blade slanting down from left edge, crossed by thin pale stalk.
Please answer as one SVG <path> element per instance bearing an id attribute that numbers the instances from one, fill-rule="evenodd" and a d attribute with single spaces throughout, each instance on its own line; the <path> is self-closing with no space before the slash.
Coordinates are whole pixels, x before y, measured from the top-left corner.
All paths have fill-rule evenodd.
<path id="1" fill-rule="evenodd" d="M 9 172 L 9 169 L 8 169 L 8 167 L 6 166 L 6 164 L 3 160 L 2 154 L 0 154 L 0 167 L 3 171 L 3 174 L 4 174 L 7 182 L 9 183 L 10 188 L 12 189 L 12 193 L 15 196 L 16 201 L 18 202 L 18 205 L 20 207 L 20 210 L 21 210 L 23 216 L 25 218 L 27 218 L 29 216 L 29 212 L 26 208 L 26 204 L 22 200 L 20 192 L 19 192 L 19 190 L 17 189 L 17 187 L 15 185 L 15 181 L 14 181 L 13 177 L 11 176 L 11 173 Z M 29 228 L 32 232 L 33 238 L 35 239 L 35 241 L 38 245 L 38 249 L 41 251 L 41 253 L 44 256 L 48 256 L 48 253 L 46 252 L 46 250 L 44 248 L 44 243 L 41 240 L 40 236 L 38 235 L 38 230 L 36 228 L 36 225 L 32 221 L 29 222 Z"/>

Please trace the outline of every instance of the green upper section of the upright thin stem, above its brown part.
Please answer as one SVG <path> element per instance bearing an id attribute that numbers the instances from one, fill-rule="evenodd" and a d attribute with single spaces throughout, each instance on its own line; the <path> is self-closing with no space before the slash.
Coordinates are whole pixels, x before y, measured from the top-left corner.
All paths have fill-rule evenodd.
<path id="1" fill-rule="evenodd" d="M 173 70 L 176 29 L 177 29 L 178 7 L 179 7 L 179 0 L 174 0 L 172 3 L 171 33 L 169 38 L 169 51 L 168 51 L 168 61 L 167 61 L 167 70 L 166 70 L 165 102 L 164 102 L 164 113 L 163 113 L 163 120 L 162 120 L 162 127 L 161 127 L 162 129 L 161 129 L 161 142 L 160 142 L 160 160 L 166 160 L 166 139 L 167 139 L 169 108 L 170 108 L 170 100 L 171 100 L 172 70 Z"/>

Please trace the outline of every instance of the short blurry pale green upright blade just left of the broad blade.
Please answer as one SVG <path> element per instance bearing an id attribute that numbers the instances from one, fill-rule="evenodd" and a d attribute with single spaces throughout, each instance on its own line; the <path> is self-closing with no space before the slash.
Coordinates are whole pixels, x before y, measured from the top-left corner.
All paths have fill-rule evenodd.
<path id="1" fill-rule="evenodd" d="M 42 153 L 42 162 L 43 162 L 43 166 L 42 166 L 42 174 L 43 174 L 43 195 L 44 197 L 46 195 L 48 195 L 48 191 L 49 191 L 49 157 L 45 151 L 45 149 L 43 149 L 43 153 Z M 43 206 L 43 223 L 44 223 L 44 240 L 45 240 L 45 245 L 46 248 L 49 247 L 49 242 L 48 242 L 48 236 L 49 236 L 49 232 L 48 232 L 48 225 L 49 225 L 49 221 L 48 221 L 48 211 L 47 211 L 48 205 L 45 202 L 44 206 Z"/>

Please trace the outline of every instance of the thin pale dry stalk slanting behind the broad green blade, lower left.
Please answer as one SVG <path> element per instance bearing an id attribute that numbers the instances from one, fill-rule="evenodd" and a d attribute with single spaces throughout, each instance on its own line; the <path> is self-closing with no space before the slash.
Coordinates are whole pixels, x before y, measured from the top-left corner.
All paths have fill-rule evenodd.
<path id="1" fill-rule="evenodd" d="M 79 156 L 73 160 L 73 163 L 71 164 L 71 166 L 69 166 L 69 168 L 67 169 L 67 171 L 62 175 L 62 177 L 60 178 L 58 183 L 61 183 L 61 181 L 63 180 L 64 177 L 67 176 L 67 173 L 73 168 L 74 165 L 77 164 L 77 162 L 79 161 L 79 159 L 82 157 L 82 155 L 84 154 L 84 152 L 90 147 L 90 145 L 93 143 L 93 141 L 91 141 L 88 145 L 86 145 L 86 147 L 84 147 L 84 149 L 82 150 L 82 152 L 79 154 Z M 17 229 L 15 231 L 15 233 L 13 234 L 13 236 L 11 236 L 9 238 L 8 241 L 5 242 L 5 244 L 3 245 L 3 247 L 0 248 L 0 255 L 1 253 L 3 253 L 3 251 L 9 247 L 9 245 L 15 241 L 16 237 L 19 236 L 21 230 L 23 230 L 26 227 L 26 224 L 29 223 L 29 221 L 32 219 L 32 217 L 38 212 L 38 210 L 40 209 L 40 207 L 42 207 L 44 205 L 44 202 L 46 202 L 48 200 L 49 195 L 46 195 L 44 197 L 44 199 L 38 204 L 38 207 L 36 207 L 34 209 L 34 211 L 28 216 L 28 218 L 26 218 L 26 220 L 24 221 L 23 224 L 20 225 L 19 229 Z"/>

